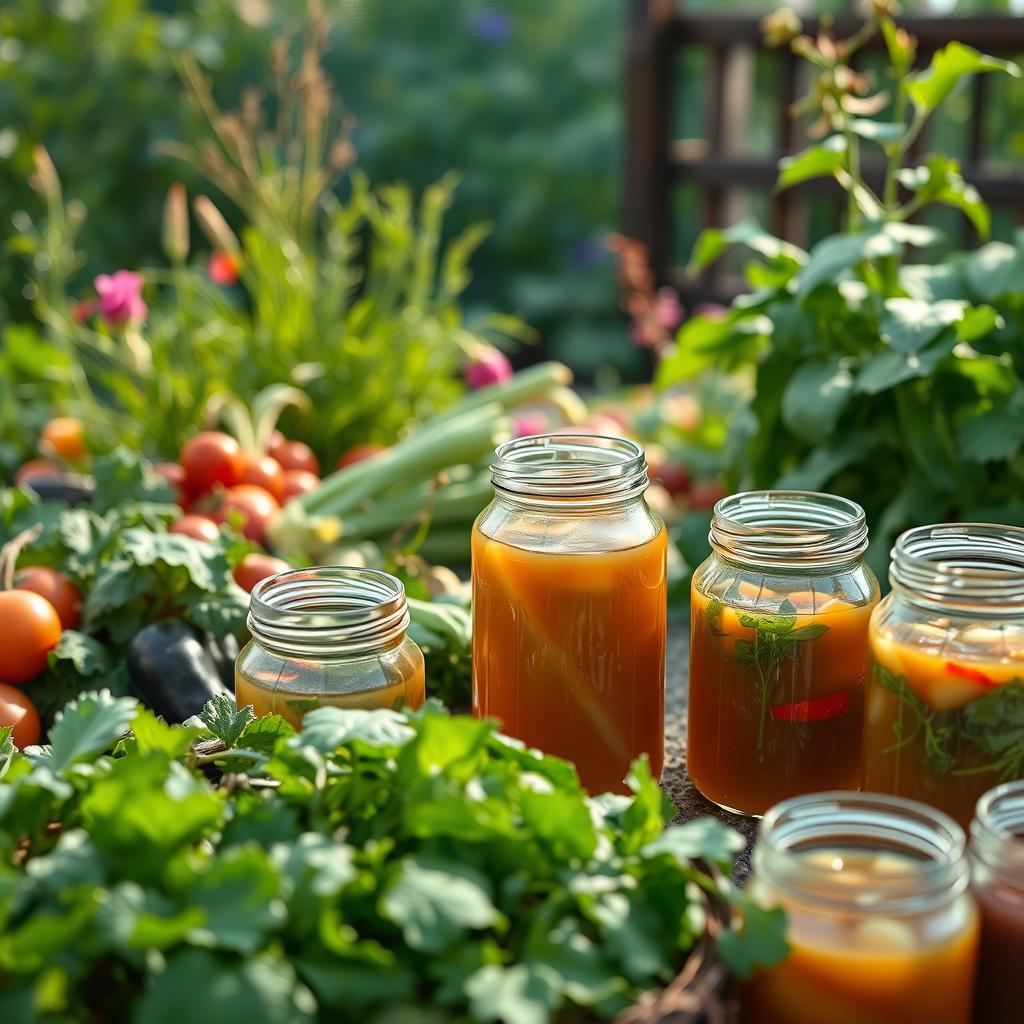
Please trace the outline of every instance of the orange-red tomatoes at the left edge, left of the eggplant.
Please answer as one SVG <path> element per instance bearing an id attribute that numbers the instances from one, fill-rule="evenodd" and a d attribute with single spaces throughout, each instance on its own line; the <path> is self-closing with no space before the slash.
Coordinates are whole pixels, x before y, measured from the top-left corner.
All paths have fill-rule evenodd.
<path id="1" fill-rule="evenodd" d="M 56 569 L 34 565 L 0 591 L 0 726 L 13 726 L 14 743 L 38 743 L 39 714 L 22 687 L 46 670 L 51 650 L 65 630 L 75 629 L 82 595 Z"/>

